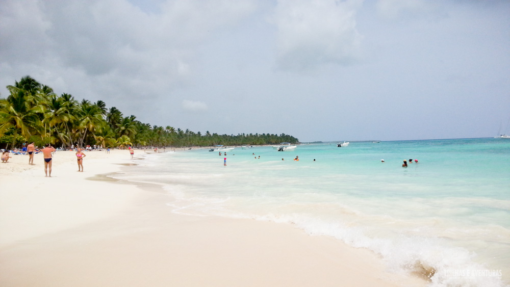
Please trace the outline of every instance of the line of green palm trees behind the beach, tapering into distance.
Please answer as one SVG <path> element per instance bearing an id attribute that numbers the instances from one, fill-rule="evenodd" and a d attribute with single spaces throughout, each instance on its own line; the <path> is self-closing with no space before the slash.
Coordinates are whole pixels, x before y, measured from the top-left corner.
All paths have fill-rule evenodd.
<path id="1" fill-rule="evenodd" d="M 56 147 L 71 145 L 126 146 L 213 146 L 263 145 L 281 142 L 296 143 L 293 136 L 281 134 L 218 135 L 183 131 L 167 125 L 151 126 L 131 115 L 124 117 L 105 102 L 74 99 L 70 94 L 57 95 L 53 89 L 30 76 L 14 86 L 7 86 L 10 95 L 0 98 L 0 147 L 19 147 L 23 142 Z"/>

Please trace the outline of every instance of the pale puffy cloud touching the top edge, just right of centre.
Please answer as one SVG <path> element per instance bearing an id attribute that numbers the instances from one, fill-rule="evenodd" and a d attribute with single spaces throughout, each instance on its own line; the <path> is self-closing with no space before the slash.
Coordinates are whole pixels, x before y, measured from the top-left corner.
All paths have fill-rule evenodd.
<path id="1" fill-rule="evenodd" d="M 361 35 L 355 14 L 359 1 L 278 1 L 278 64 L 284 69 L 345 64 L 358 57 Z"/>

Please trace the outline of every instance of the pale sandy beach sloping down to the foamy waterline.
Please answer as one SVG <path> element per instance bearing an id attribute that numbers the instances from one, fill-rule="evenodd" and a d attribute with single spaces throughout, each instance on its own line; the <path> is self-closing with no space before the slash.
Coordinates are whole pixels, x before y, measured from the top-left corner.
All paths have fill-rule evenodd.
<path id="1" fill-rule="evenodd" d="M 89 180 L 139 163 L 126 150 L 0 163 L 1 286 L 423 286 L 368 250 L 288 224 L 172 214 L 162 189 Z M 138 158 L 137 158 L 138 156 Z M 99 176 L 99 178 L 104 178 Z"/>

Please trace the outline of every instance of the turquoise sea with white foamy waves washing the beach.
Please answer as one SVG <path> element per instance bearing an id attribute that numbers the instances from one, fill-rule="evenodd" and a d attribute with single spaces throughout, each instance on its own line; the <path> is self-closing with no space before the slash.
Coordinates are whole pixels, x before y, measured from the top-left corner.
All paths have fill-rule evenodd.
<path id="1" fill-rule="evenodd" d="M 114 177 L 162 185 L 177 214 L 291 223 L 370 249 L 390 272 L 422 274 L 431 286 L 510 282 L 510 140 L 236 147 L 226 154 L 146 154 Z"/>

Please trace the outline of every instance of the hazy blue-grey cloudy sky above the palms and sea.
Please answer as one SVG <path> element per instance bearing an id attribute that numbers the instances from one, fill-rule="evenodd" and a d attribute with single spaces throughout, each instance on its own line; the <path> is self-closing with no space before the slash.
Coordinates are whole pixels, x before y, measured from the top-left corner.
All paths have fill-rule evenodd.
<path id="1" fill-rule="evenodd" d="M 0 97 L 26 75 L 202 134 L 494 137 L 510 1 L 0 0 Z"/>

